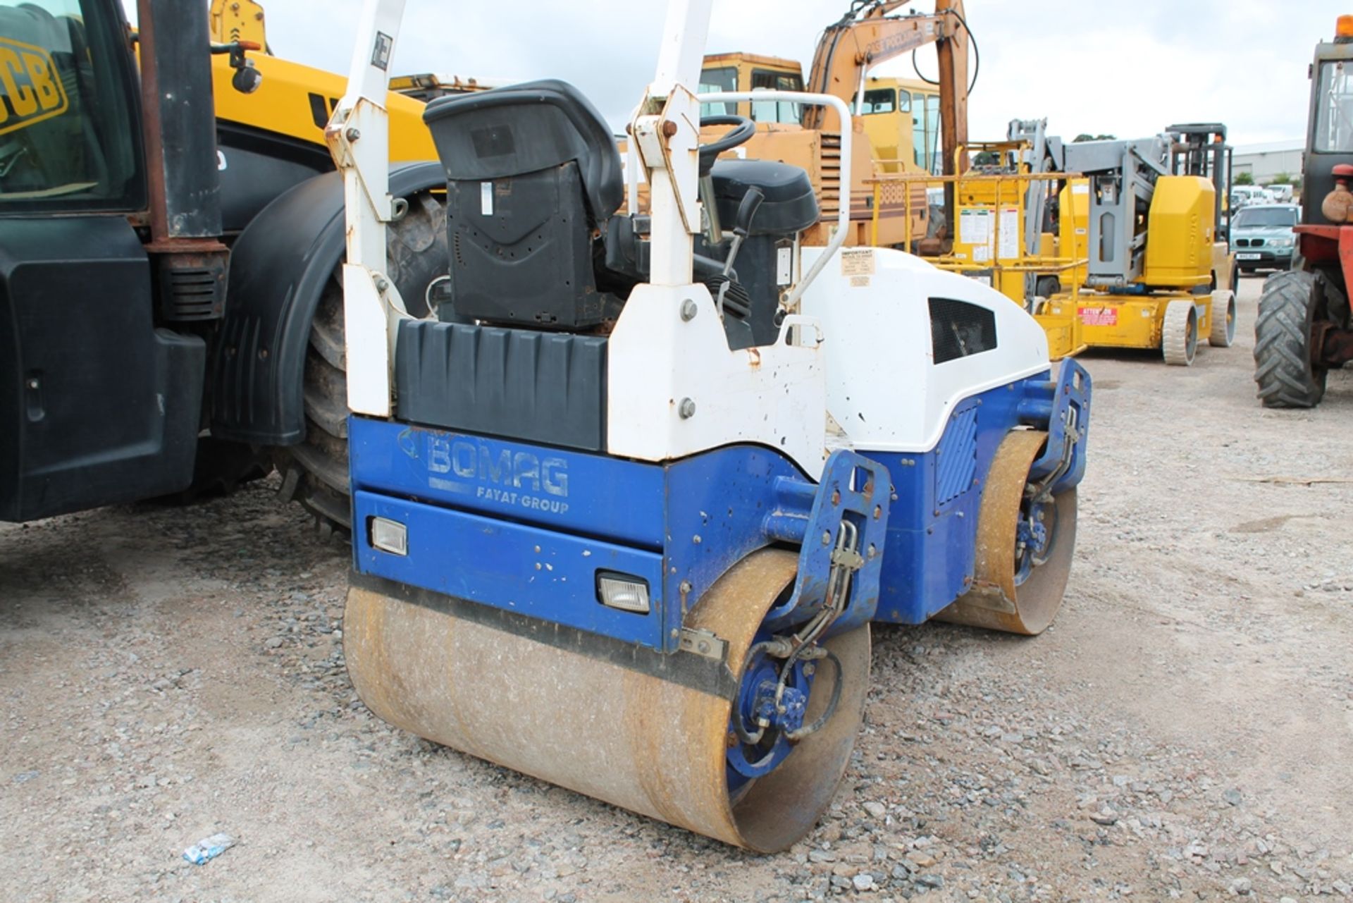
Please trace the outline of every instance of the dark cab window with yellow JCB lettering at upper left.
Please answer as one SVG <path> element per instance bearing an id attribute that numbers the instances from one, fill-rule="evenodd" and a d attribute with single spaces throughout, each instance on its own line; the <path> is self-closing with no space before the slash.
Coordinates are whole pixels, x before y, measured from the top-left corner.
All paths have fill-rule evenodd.
<path id="1" fill-rule="evenodd" d="M 0 0 L 0 214 L 143 206 L 115 4 Z"/>

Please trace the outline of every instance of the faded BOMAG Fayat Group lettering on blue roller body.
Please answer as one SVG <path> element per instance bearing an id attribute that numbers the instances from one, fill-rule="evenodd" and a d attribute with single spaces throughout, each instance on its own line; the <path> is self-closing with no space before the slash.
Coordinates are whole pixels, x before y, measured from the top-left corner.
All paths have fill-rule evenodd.
<path id="1" fill-rule="evenodd" d="M 476 498 L 561 514 L 568 510 L 568 460 L 467 439 L 430 439 L 428 470 L 474 481 Z"/>

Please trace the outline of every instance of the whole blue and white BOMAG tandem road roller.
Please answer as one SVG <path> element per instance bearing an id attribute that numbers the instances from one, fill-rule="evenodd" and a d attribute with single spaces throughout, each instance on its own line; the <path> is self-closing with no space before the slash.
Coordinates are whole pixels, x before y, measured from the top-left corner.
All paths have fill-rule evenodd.
<path id="1" fill-rule="evenodd" d="M 428 106 L 451 279 L 415 320 L 384 276 L 403 3 L 367 0 L 326 133 L 348 195 L 344 647 L 396 726 L 769 852 L 848 765 L 871 621 L 1047 627 L 1091 382 L 1054 375 L 999 292 L 843 249 L 848 210 L 804 246 L 802 169 L 716 162 L 752 129 L 700 145 L 710 7 L 668 4 L 630 126 L 649 215 L 616 214 L 620 154 L 566 83 Z M 712 215 L 728 229 L 697 255 Z"/>

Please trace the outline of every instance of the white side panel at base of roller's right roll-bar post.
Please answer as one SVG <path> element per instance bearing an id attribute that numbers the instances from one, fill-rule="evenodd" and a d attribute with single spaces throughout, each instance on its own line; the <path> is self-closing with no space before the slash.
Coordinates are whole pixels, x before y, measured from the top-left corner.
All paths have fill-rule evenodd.
<path id="1" fill-rule="evenodd" d="M 682 305 L 695 317 L 682 320 Z M 813 479 L 821 475 L 827 421 L 823 349 L 816 322 L 790 317 L 782 341 L 729 351 L 704 286 L 637 286 L 610 334 L 606 451 L 639 460 L 670 460 L 756 443 L 787 455 Z M 682 417 L 682 402 L 694 413 Z"/>

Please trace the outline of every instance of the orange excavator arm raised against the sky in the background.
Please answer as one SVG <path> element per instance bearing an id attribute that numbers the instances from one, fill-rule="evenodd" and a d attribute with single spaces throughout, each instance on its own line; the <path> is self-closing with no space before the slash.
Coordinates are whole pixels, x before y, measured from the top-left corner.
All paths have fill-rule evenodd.
<path id="1" fill-rule="evenodd" d="M 939 57 L 940 142 L 944 173 L 955 175 L 959 146 L 967 144 L 967 45 L 963 0 L 935 0 L 932 15 L 894 15 L 908 0 L 852 0 L 850 11 L 817 42 L 808 91 L 854 103 L 869 70 L 928 43 Z M 815 111 L 808 127 L 831 129 L 828 111 Z M 966 169 L 966 165 L 963 167 Z"/>

